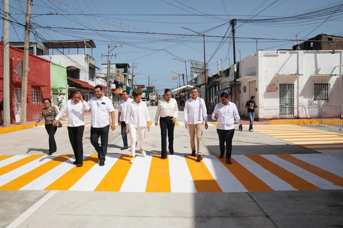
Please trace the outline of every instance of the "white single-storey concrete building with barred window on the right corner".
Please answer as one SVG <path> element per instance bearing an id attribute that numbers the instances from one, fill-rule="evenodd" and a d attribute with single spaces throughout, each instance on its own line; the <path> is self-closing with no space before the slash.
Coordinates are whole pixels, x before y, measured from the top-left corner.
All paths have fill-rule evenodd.
<path id="1" fill-rule="evenodd" d="M 341 105 L 343 51 L 258 51 L 241 61 L 239 106 L 256 96 L 255 118 L 308 118 L 308 102 Z M 230 80 L 229 80 L 230 81 Z"/>

